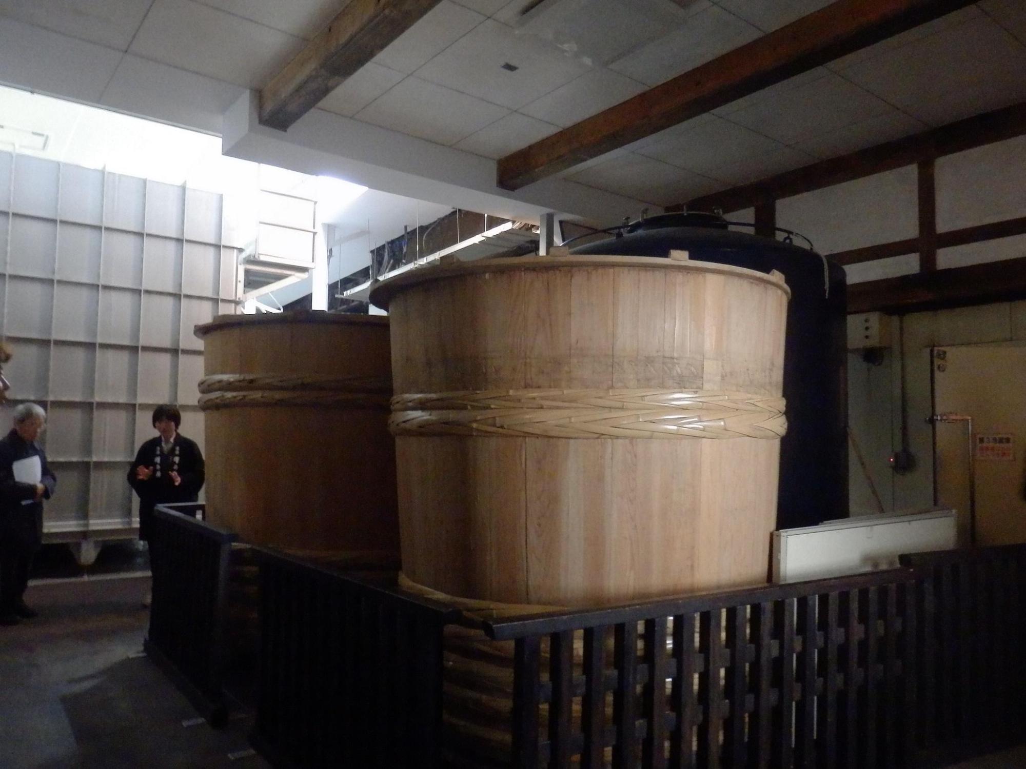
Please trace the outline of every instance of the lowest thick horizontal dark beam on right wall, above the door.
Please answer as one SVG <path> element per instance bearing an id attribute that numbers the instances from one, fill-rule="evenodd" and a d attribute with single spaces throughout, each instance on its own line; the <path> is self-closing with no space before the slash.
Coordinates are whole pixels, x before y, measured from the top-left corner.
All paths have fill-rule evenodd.
<path id="1" fill-rule="evenodd" d="M 847 311 L 910 313 L 1026 297 L 1026 257 L 855 283 Z"/>

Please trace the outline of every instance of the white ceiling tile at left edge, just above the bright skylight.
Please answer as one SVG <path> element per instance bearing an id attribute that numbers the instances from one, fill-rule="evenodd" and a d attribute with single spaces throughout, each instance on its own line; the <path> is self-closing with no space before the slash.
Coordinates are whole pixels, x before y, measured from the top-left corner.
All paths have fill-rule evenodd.
<path id="1" fill-rule="evenodd" d="M 96 102 L 122 54 L 0 18 L 0 80 L 42 93 Z"/>

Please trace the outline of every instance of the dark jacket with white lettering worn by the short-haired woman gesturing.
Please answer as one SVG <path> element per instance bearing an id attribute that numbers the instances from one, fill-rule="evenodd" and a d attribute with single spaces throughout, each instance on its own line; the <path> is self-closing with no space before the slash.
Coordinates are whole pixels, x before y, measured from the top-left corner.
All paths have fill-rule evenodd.
<path id="1" fill-rule="evenodd" d="M 135 460 L 128 468 L 128 484 L 139 494 L 141 539 L 149 539 L 150 521 L 157 504 L 197 501 L 205 479 L 203 454 L 195 441 L 179 433 L 174 436 L 174 445 L 166 454 L 160 450 L 161 441 L 157 436 L 140 446 Z M 140 467 L 153 468 L 153 475 L 145 481 L 139 480 L 135 470 Z M 171 480 L 171 472 L 176 472 L 182 479 L 177 486 Z"/>

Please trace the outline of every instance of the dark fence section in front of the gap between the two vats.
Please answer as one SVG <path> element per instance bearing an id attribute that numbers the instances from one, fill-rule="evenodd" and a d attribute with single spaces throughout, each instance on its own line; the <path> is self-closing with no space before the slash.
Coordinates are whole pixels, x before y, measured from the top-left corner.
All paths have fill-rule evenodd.
<path id="1" fill-rule="evenodd" d="M 442 629 L 460 612 L 273 551 L 256 558 L 256 750 L 276 767 L 436 766 Z"/>

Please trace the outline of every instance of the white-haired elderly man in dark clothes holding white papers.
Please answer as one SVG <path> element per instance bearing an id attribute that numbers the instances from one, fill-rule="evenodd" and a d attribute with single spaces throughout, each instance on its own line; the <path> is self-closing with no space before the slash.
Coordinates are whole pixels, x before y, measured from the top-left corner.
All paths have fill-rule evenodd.
<path id="1" fill-rule="evenodd" d="M 14 428 L 0 439 L 0 625 L 36 616 L 25 605 L 32 559 L 43 534 L 43 499 L 57 479 L 36 439 L 46 412 L 35 403 L 14 408 Z"/>

